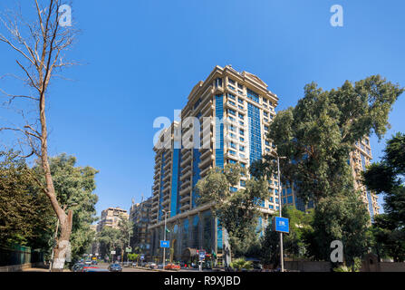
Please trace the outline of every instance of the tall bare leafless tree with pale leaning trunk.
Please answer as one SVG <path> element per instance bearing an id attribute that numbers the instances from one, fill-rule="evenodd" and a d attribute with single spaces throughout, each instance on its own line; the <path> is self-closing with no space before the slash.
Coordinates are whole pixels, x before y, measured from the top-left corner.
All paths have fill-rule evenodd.
<path id="1" fill-rule="evenodd" d="M 30 93 L 11 94 L 0 89 L 0 94 L 8 105 L 17 101 L 31 102 L 31 106 L 34 106 L 34 119 L 27 120 L 27 109 L 23 105 L 18 109 L 24 124 L 21 127 L 0 126 L 0 131 L 21 134 L 19 143 L 24 147 L 24 157 L 36 156 L 41 161 L 43 179 L 35 179 L 49 198 L 59 219 L 60 237 L 54 248 L 56 258 L 53 271 L 61 271 L 72 233 L 72 210 L 66 210 L 66 206 L 60 205 L 56 198 L 48 160 L 48 127 L 45 113 L 51 80 L 57 76 L 57 72 L 74 64 L 65 62 L 63 53 L 72 45 L 77 31 L 60 24 L 63 14 L 60 0 L 44 0 L 44 3 L 32 0 L 32 3 L 34 20 L 31 22 L 24 21 L 21 9 L 14 15 L 7 14 L 0 18 L 0 25 L 8 35 L 7 37 L 0 34 L 0 43 L 8 45 L 10 51 L 17 55 L 15 63 L 22 75 L 14 77 L 23 81 Z"/>

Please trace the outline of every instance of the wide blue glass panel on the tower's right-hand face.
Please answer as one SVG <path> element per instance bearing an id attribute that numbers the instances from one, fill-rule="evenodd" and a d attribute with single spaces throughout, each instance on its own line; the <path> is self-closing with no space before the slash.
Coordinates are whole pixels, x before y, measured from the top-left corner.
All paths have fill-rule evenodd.
<path id="1" fill-rule="evenodd" d="M 250 164 L 262 158 L 262 129 L 260 127 L 260 109 L 250 102 L 247 104 L 249 126 Z"/>

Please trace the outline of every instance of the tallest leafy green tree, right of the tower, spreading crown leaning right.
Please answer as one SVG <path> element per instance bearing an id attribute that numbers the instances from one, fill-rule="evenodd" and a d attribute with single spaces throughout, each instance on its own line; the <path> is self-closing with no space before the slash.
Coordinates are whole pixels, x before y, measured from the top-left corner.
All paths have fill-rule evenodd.
<path id="1" fill-rule="evenodd" d="M 340 238 L 348 243 L 349 262 L 362 254 L 361 238 L 369 237 L 364 234 L 367 213 L 354 192 L 348 159 L 353 144 L 364 136 L 375 133 L 381 139 L 392 105 L 403 91 L 379 75 L 347 81 L 331 91 L 313 82 L 304 87 L 304 98 L 294 108 L 278 112 L 272 122 L 267 137 L 285 157 L 280 160 L 283 184 L 294 184 L 297 196 L 315 205 L 313 246 L 322 247 L 313 247 L 315 256 L 329 259 L 325 240 Z M 266 155 L 252 171 L 256 176 L 273 174 L 275 165 L 275 157 Z M 359 232 L 351 235 L 352 229 Z"/>

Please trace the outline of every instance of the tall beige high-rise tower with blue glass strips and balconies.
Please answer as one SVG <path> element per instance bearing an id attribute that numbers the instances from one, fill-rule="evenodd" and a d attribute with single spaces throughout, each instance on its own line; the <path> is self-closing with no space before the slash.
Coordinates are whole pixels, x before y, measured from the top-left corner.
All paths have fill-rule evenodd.
<path id="1" fill-rule="evenodd" d="M 227 163 L 242 167 L 272 151 L 265 134 L 275 117 L 278 98 L 267 84 L 252 73 L 238 73 L 231 66 L 216 66 L 205 82 L 198 82 L 181 111 L 181 123 L 160 134 L 155 144 L 155 175 L 152 187 L 151 255 L 161 256 L 159 240 L 164 237 L 167 218 L 174 258 L 191 249 L 223 255 L 226 233 L 213 218 L 210 206 L 198 207 L 195 186 L 213 167 Z M 231 190 L 244 189 L 246 179 Z M 269 198 L 263 200 L 265 228 L 270 214 L 278 209 L 276 177 L 271 179 Z"/>

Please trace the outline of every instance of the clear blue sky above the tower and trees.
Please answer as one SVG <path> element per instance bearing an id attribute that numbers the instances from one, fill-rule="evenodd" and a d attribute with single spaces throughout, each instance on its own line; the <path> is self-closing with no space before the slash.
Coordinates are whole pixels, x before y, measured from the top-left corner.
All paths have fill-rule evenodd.
<path id="1" fill-rule="evenodd" d="M 330 24 L 334 4 L 343 27 Z M 53 83 L 50 150 L 100 170 L 99 213 L 151 195 L 154 119 L 172 118 L 217 64 L 258 75 L 280 97 L 278 110 L 312 81 L 329 90 L 380 73 L 405 86 L 403 1 L 73 0 L 72 8 L 82 34 L 69 56 L 87 64 L 66 73 L 74 82 Z M 14 70 L 5 45 L 0 60 L 0 74 Z M 387 137 L 405 131 L 404 109 L 401 96 Z M 384 142 L 371 137 L 371 146 L 378 160 Z"/>

